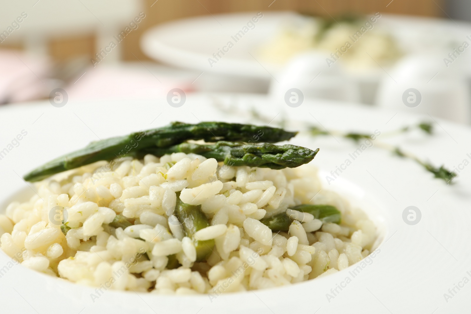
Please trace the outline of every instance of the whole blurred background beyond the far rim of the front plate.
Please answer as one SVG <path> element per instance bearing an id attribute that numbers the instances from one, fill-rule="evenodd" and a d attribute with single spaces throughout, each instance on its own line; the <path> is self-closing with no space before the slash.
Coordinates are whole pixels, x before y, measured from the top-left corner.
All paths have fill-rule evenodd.
<path id="1" fill-rule="evenodd" d="M 466 0 L 24 0 L 1 8 L 2 105 L 156 99 L 179 89 L 471 121 Z"/>

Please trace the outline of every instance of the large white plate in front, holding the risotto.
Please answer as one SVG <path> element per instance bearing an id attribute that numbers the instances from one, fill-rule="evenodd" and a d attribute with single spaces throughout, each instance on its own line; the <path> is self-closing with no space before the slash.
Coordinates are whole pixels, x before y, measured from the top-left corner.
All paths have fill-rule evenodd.
<path id="1" fill-rule="evenodd" d="M 241 113 L 221 113 L 213 104 L 232 106 Z M 28 170 L 59 154 L 70 152 L 89 141 L 154 128 L 179 120 L 199 122 L 224 120 L 249 122 L 247 109 L 265 112 L 275 125 L 282 117 L 292 121 L 322 124 L 328 129 L 374 131 L 386 138 L 388 130 L 421 121 L 413 114 L 343 106 L 328 102 L 309 103 L 297 108 L 275 107 L 268 99 L 252 95 L 187 95 L 179 108 L 165 99 L 154 102 L 69 103 L 56 108 L 49 102 L 0 109 L 0 150 L 23 129 L 28 134 L 0 161 L 0 204 L 13 193 L 29 188 L 21 177 Z M 411 111 L 413 112 L 413 111 Z M 439 121 L 433 137 L 412 133 L 391 139 L 405 150 L 447 167 L 471 159 L 471 129 Z M 378 137 L 381 140 L 382 136 Z M 337 142 L 338 140 L 338 142 Z M 299 135 L 293 144 L 320 147 L 314 164 L 326 173 L 335 170 L 357 149 L 341 138 L 315 140 Z M 106 291 L 92 301 L 94 289 L 52 278 L 22 266 L 8 267 L 0 252 L 0 294 L 2 313 L 463 313 L 469 305 L 463 288 L 446 302 L 444 293 L 453 289 L 470 271 L 469 228 L 471 195 L 470 169 L 465 167 L 455 185 L 433 179 L 414 162 L 391 156 L 378 148 L 367 148 L 341 173 L 332 185 L 362 206 L 378 225 L 383 241 L 381 252 L 371 265 L 351 278 L 335 298 L 327 299 L 357 266 L 313 281 L 270 290 L 220 296 L 158 296 L 134 292 Z M 26 192 L 32 193 L 32 192 Z M 417 206 L 422 220 L 406 225 L 402 212 Z M 1 207 L 4 210 L 4 206 Z M 6 266 L 6 268 L 4 267 Z M 343 284 L 345 285 L 345 284 Z M 437 309 L 438 308 L 438 309 Z M 199 311 L 199 312 L 198 312 Z"/>

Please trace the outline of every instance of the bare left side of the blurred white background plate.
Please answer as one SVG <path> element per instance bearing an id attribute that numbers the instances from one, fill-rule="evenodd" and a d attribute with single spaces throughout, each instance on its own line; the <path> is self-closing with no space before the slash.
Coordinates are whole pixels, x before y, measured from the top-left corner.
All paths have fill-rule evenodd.
<path id="1" fill-rule="evenodd" d="M 270 79 L 269 72 L 276 72 L 276 65 L 261 64 L 255 59 L 255 49 L 269 37 L 275 35 L 278 26 L 284 20 L 295 18 L 292 12 L 263 13 L 263 17 L 254 23 L 244 36 L 235 42 L 231 37 L 241 31 L 253 13 L 234 13 L 213 16 L 198 16 L 169 22 L 148 30 L 141 39 L 143 51 L 156 60 L 204 72 L 241 75 Z M 213 53 L 227 45 L 234 47 L 222 56 L 216 64 L 209 63 Z M 252 57 L 250 54 L 252 54 Z"/>

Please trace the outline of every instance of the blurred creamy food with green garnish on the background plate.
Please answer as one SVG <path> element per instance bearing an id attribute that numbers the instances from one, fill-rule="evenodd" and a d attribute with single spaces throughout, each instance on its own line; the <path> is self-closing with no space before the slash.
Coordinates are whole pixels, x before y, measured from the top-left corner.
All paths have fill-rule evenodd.
<path id="1" fill-rule="evenodd" d="M 280 25 L 276 36 L 259 49 L 262 60 L 286 64 L 299 53 L 326 52 L 325 63 L 341 61 L 352 71 L 389 66 L 401 54 L 390 32 L 376 27 L 382 15 L 332 18 L 296 16 Z"/>

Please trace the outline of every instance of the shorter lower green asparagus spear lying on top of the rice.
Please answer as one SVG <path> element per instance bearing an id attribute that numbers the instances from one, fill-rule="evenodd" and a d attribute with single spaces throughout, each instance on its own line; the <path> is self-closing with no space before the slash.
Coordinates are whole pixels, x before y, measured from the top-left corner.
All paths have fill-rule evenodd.
<path id="1" fill-rule="evenodd" d="M 319 149 L 295 145 L 244 144 L 219 141 L 215 144 L 182 143 L 166 148 L 152 148 L 141 153 L 162 156 L 170 153 L 196 153 L 206 158 L 224 161 L 229 166 L 250 166 L 271 169 L 295 168 L 313 160 Z"/>

